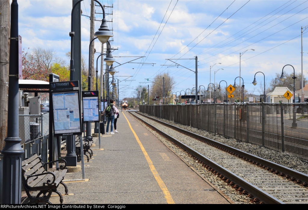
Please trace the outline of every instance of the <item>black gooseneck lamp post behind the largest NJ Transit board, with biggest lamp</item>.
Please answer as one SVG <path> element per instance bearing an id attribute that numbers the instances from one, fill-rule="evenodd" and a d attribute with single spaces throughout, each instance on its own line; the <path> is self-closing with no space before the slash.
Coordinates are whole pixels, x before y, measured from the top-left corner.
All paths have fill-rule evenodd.
<path id="1" fill-rule="evenodd" d="M 73 53 L 74 53 L 74 51 L 73 51 L 73 41 L 74 41 L 74 36 L 75 36 L 75 32 L 74 32 L 74 28 L 73 28 L 73 17 L 74 17 L 75 7 L 77 6 L 77 4 L 79 4 L 82 1 L 83 0 L 79 0 L 78 2 L 76 2 L 74 4 L 74 6 L 72 8 L 72 13 L 71 13 L 71 32 L 69 33 L 69 35 L 71 36 L 71 61 L 70 61 L 70 80 L 71 81 L 74 80 L 73 72 L 75 71 L 75 69 L 74 69 L 74 59 L 73 59 Z M 97 2 L 103 10 L 102 24 L 100 25 L 99 30 L 97 32 L 95 32 L 94 36 L 96 36 L 99 39 L 99 41 L 102 44 L 104 44 L 113 35 L 112 35 L 112 32 L 110 32 L 110 30 L 107 27 L 106 19 L 105 19 L 105 10 L 104 10 L 103 5 L 97 0 L 94 0 L 94 1 Z M 91 40 L 91 42 L 92 42 L 92 40 Z M 89 51 L 89 53 L 90 53 L 90 51 Z M 90 81 L 88 81 L 88 82 L 90 82 Z M 90 123 L 88 123 L 88 124 L 90 124 Z M 87 135 L 91 135 L 91 126 L 89 126 L 89 125 L 87 127 Z M 65 160 L 67 161 L 67 166 L 76 166 L 77 165 L 77 156 L 76 156 L 76 151 L 75 151 L 75 138 L 74 138 L 74 136 L 67 136 L 66 142 L 67 142 L 67 155 L 65 157 Z"/>

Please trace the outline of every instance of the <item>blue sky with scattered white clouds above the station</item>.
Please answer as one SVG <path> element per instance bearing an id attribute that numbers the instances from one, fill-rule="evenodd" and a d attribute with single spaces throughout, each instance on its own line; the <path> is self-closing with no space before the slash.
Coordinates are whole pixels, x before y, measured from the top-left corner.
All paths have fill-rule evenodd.
<path id="1" fill-rule="evenodd" d="M 308 29 L 305 30 L 305 26 L 308 28 L 308 1 L 99 1 L 113 6 L 106 7 L 105 11 L 109 13 L 106 19 L 112 21 L 107 25 L 113 30 L 112 48 L 118 49 L 113 52 L 116 61 L 122 64 L 145 56 L 132 61 L 136 63 L 116 68 L 119 73 L 115 76 L 120 81 L 129 76 L 132 77 L 127 80 L 133 80 L 119 83 L 120 100 L 136 97 L 136 87 L 151 86 L 151 83 L 140 82 L 162 73 L 174 78 L 174 92 L 191 90 L 196 80 L 195 56 L 201 90 L 203 86 L 207 89 L 210 82 L 214 83 L 214 78 L 215 83 L 225 80 L 228 86 L 233 85 L 234 79 L 240 76 L 241 64 L 245 89 L 249 93 L 262 94 L 263 74 L 256 75 L 258 84 L 253 86 L 254 74 L 263 72 L 265 82 L 270 83 L 286 64 L 301 73 L 302 43 L 303 52 L 307 52 L 303 53 L 303 74 L 308 78 Z M 18 5 L 22 48 L 54 49 L 69 63 L 65 53 L 71 48 L 72 1 L 22 0 Z M 81 50 L 88 58 L 90 0 L 81 2 L 81 10 Z M 95 10 L 102 13 L 98 6 Z M 95 14 L 95 19 L 102 19 L 102 14 Z M 95 31 L 99 25 L 99 21 L 95 21 Z M 301 27 L 305 30 L 302 42 Z M 95 49 L 101 51 L 97 40 Z M 98 55 L 95 54 L 95 61 Z M 174 59 L 172 61 L 180 66 L 176 67 L 167 59 Z M 287 66 L 284 72 L 293 74 L 293 68 Z M 225 82 L 221 84 L 225 86 Z"/>

